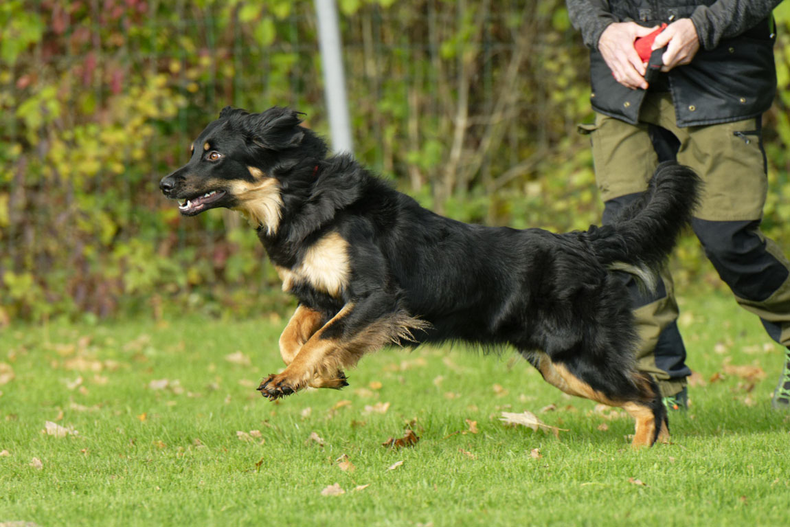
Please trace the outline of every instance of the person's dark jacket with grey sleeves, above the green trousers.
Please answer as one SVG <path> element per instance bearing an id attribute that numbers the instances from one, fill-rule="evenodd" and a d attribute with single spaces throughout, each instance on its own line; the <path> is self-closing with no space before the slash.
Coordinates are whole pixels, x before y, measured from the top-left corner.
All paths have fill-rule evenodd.
<path id="1" fill-rule="evenodd" d="M 700 50 L 690 64 L 666 73 L 678 126 L 738 121 L 761 115 L 773 102 L 773 7 L 781 0 L 566 0 L 574 27 L 590 47 L 590 101 L 595 111 L 635 124 L 645 91 L 615 81 L 597 51 L 614 22 L 646 27 L 690 18 Z"/>

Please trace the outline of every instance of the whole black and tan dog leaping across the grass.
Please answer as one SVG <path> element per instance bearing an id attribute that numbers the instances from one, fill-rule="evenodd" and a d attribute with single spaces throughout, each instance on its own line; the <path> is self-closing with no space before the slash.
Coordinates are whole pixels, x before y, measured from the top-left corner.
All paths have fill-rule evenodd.
<path id="1" fill-rule="evenodd" d="M 634 369 L 617 275 L 655 276 L 690 217 L 693 172 L 661 165 L 644 198 L 588 232 L 489 228 L 423 209 L 352 156 L 326 157 L 300 122 L 287 108 L 225 108 L 160 183 L 185 216 L 243 213 L 299 299 L 280 337 L 288 367 L 261 382 L 265 397 L 346 386 L 343 371 L 387 344 L 510 344 L 560 390 L 634 416 L 634 446 L 668 437 L 656 384 Z"/>

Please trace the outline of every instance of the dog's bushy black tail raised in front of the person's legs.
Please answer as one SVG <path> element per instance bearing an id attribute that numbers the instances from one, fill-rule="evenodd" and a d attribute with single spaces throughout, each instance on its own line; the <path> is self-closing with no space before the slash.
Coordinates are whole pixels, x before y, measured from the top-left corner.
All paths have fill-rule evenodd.
<path id="1" fill-rule="evenodd" d="M 599 262 L 612 269 L 634 266 L 655 272 L 691 220 L 700 186 L 699 176 L 690 168 L 675 161 L 660 164 L 640 198 L 611 224 L 588 232 Z"/>

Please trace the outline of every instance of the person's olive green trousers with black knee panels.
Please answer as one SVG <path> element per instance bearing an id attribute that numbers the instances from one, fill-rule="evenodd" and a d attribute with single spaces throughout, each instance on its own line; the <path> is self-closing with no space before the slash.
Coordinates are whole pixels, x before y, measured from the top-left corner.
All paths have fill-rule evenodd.
<path id="1" fill-rule="evenodd" d="M 692 227 L 705 254 L 738 303 L 757 314 L 769 336 L 790 345 L 790 262 L 759 229 L 766 202 L 766 158 L 761 119 L 680 128 L 668 92 L 649 92 L 631 125 L 596 115 L 592 156 L 606 203 L 604 223 L 616 209 L 647 188 L 659 163 L 656 133 L 672 156 L 702 178 L 702 200 Z M 664 157 L 666 154 L 664 154 Z M 664 270 L 656 295 L 634 289 L 641 344 L 638 364 L 659 382 L 666 397 L 683 389 L 690 374 L 676 325 L 672 277 Z"/>

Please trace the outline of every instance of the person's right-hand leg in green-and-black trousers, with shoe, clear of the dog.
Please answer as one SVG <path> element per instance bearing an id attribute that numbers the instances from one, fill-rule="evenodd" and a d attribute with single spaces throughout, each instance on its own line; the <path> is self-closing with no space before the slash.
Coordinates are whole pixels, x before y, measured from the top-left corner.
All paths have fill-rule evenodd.
<path id="1" fill-rule="evenodd" d="M 698 171 L 705 187 L 692 221 L 719 276 L 741 305 L 757 314 L 769 336 L 790 345 L 790 262 L 759 229 L 767 192 L 760 119 L 691 127 L 680 163 Z M 790 407 L 790 352 L 774 393 Z"/>

